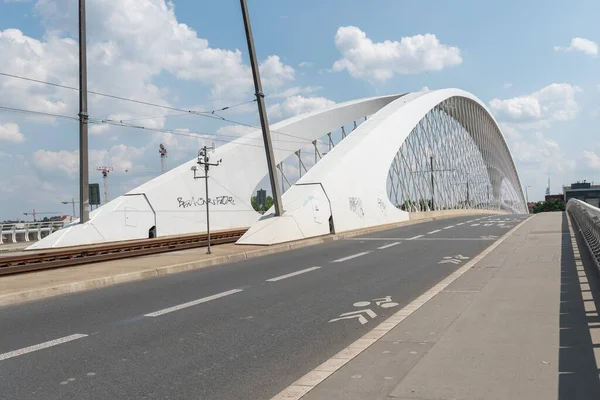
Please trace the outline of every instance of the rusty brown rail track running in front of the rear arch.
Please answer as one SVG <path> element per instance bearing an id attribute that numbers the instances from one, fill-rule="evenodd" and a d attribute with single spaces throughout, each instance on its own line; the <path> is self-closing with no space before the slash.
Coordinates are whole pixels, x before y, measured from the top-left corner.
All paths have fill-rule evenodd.
<path id="1" fill-rule="evenodd" d="M 246 229 L 211 232 L 210 244 L 234 243 L 245 232 Z M 193 249 L 206 246 L 207 239 L 203 233 L 3 255 L 0 256 L 0 276 Z"/>

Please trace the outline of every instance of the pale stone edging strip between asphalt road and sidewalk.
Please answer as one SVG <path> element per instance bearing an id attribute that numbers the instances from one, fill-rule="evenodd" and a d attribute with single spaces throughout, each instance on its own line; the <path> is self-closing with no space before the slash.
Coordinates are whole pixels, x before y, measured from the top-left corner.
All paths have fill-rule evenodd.
<path id="1" fill-rule="evenodd" d="M 458 270 L 442 279 L 437 285 L 427 290 L 425 293 L 413 300 L 409 305 L 404 307 L 402 310 L 397 311 L 391 317 L 386 319 L 384 322 L 375 326 L 370 332 L 367 332 L 363 337 L 357 339 L 350 346 L 340 351 L 323 364 L 319 365 L 306 375 L 292 383 L 287 388 L 283 389 L 277 395 L 271 398 L 271 400 L 299 400 L 308 392 L 313 390 L 325 379 L 333 375 L 337 370 L 342 368 L 345 364 L 356 358 L 360 353 L 369 348 L 373 343 L 377 343 L 384 335 L 389 331 L 398 326 L 402 321 L 408 318 L 412 313 L 421 308 L 425 303 L 431 300 L 438 293 L 444 291 L 452 282 L 460 278 L 465 272 L 471 267 L 477 264 L 481 259 L 491 253 L 496 247 L 498 247 L 506 238 L 512 235 L 517 229 L 519 229 L 525 221 L 515 226 L 511 231 L 502 236 L 496 242 L 494 242 L 487 249 L 482 251 L 479 255 L 475 256 L 467 264 L 460 267 Z"/>

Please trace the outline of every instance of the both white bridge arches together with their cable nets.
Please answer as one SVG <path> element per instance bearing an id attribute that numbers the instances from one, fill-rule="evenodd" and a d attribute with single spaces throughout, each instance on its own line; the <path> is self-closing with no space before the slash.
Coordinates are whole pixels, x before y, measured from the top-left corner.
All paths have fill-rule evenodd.
<path id="1" fill-rule="evenodd" d="M 271 130 L 279 179 L 288 183 L 282 217 L 261 216 L 250 205 L 267 173 L 260 131 L 211 156 L 223 160 L 210 171 L 211 229 L 251 226 L 240 243 L 271 244 L 404 221 L 408 212 L 431 209 L 527 212 L 498 125 L 481 101 L 461 90 L 350 101 Z M 338 132 L 337 145 L 332 132 Z M 302 156 L 310 149 L 312 168 Z M 299 179 L 293 183 L 282 165 L 295 157 Z M 88 223 L 31 248 L 147 238 L 151 231 L 156 236 L 205 231 L 203 182 L 190 171 L 195 163 L 164 173 L 93 211 Z"/>

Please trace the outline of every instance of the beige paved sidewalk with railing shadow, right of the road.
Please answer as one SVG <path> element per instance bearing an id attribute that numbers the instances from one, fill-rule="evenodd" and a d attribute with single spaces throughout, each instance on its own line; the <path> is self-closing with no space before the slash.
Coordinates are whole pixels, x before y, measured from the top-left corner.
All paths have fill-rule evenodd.
<path id="1" fill-rule="evenodd" d="M 599 278 L 569 224 L 528 220 L 302 399 L 600 399 Z"/>

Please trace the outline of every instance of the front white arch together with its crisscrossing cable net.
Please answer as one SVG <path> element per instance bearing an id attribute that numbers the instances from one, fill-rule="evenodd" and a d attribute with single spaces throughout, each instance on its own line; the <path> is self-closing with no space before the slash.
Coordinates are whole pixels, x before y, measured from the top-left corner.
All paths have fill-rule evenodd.
<path id="1" fill-rule="evenodd" d="M 428 163 L 432 157 L 437 164 Z M 431 176 L 429 182 L 423 175 Z M 467 182 L 470 196 L 460 200 L 457 186 Z M 239 243 L 272 244 L 401 222 L 410 211 L 527 212 L 500 127 L 479 99 L 459 89 L 411 93 L 383 107 L 296 182 L 283 202 L 282 217 L 262 217 Z"/>

